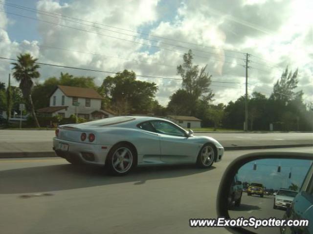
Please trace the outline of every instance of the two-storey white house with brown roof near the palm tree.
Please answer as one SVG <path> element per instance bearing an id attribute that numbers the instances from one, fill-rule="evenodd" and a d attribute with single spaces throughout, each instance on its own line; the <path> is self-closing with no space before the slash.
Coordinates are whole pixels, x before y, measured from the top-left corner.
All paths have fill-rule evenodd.
<path id="1" fill-rule="evenodd" d="M 77 113 L 77 117 L 90 120 L 114 117 L 112 111 L 101 109 L 102 99 L 91 88 L 58 85 L 50 95 L 49 106 L 37 110 L 37 113 L 46 117 L 60 115 L 66 118 Z"/>

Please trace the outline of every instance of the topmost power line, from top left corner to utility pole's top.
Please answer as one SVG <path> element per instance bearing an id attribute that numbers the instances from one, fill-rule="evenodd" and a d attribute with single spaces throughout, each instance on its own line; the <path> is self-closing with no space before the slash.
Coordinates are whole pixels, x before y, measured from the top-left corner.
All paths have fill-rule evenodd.
<path id="1" fill-rule="evenodd" d="M 201 46 L 204 48 L 212 48 L 212 49 L 219 49 L 219 50 L 224 50 L 224 51 L 228 51 L 228 52 L 232 52 L 232 53 L 239 53 L 239 54 L 244 54 L 242 52 L 238 52 L 238 51 L 234 51 L 234 50 L 229 50 L 229 49 L 224 49 L 224 48 L 220 48 L 220 47 L 214 47 L 214 46 L 205 46 L 205 45 L 200 45 L 197 43 L 193 43 L 193 42 L 187 42 L 187 41 L 182 41 L 182 40 L 178 40 L 178 39 L 170 39 L 170 38 L 165 38 L 165 37 L 160 37 L 160 36 L 156 36 L 153 34 L 149 34 L 149 33 L 143 33 L 143 32 L 138 32 L 138 31 L 133 31 L 133 30 L 129 30 L 129 29 L 124 29 L 124 28 L 120 28 L 120 27 L 115 27 L 115 26 L 111 26 L 108 24 L 103 24 L 103 23 L 97 23 L 94 21 L 89 21 L 89 20 L 82 20 L 82 19 L 78 19 L 78 18 L 74 18 L 74 17 L 69 17 L 69 16 L 65 16 L 62 14 L 57 14 L 57 13 L 53 13 L 53 12 L 49 12 L 49 11 L 43 11 L 43 10 L 38 10 L 38 9 L 34 9 L 34 8 L 30 8 L 30 7 L 26 7 L 26 6 L 22 6 L 22 5 L 18 5 L 18 4 L 13 4 L 13 3 L 5 3 L 3 1 L 0 1 L 2 4 L 10 6 L 10 7 L 15 7 L 15 8 L 19 8 L 19 9 L 23 9 L 23 10 L 28 10 L 28 11 L 32 11 L 32 12 L 44 12 L 44 13 L 48 13 L 51 15 L 56 15 L 56 16 L 60 16 L 63 18 L 68 18 L 68 19 L 72 19 L 72 20 L 79 20 L 79 21 L 83 21 L 83 22 L 88 22 L 88 23 L 92 23 L 92 24 L 97 24 L 97 25 L 102 25 L 102 26 L 106 26 L 106 27 L 110 27 L 110 28 L 115 28 L 115 29 L 119 29 L 119 30 L 124 30 L 124 31 L 128 31 L 128 32 L 133 32 L 136 34 L 140 34 L 140 35 L 146 35 L 149 37 L 155 37 L 155 38 L 160 38 L 160 39 L 166 39 L 166 40 L 172 40 L 172 41 L 177 41 L 177 42 L 181 42 L 181 43 L 186 43 L 186 44 L 192 44 L 192 45 L 196 45 L 196 46 Z M 43 13 L 41 13 L 43 14 Z M 91 25 L 89 25 L 91 26 Z"/>

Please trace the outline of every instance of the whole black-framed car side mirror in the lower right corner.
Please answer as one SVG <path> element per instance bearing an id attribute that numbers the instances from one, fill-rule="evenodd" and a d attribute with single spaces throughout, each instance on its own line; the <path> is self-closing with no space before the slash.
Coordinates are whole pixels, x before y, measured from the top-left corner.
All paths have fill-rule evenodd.
<path id="1" fill-rule="evenodd" d="M 226 227 L 232 233 L 313 233 L 313 154 L 254 153 L 235 159 L 221 180 L 217 213 L 225 219 L 309 221 L 306 227 Z"/>

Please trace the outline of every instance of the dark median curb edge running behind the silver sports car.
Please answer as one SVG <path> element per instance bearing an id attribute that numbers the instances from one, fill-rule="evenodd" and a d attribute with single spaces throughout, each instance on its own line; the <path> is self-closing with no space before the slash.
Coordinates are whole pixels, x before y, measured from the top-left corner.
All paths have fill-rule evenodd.
<path id="1" fill-rule="evenodd" d="M 264 146 L 226 146 L 225 151 L 234 150 L 261 150 L 261 149 L 280 149 L 280 148 L 297 148 L 311 147 L 313 144 L 297 145 L 264 145 Z M 22 157 L 56 157 L 54 151 L 43 152 L 0 152 L 0 158 L 22 158 Z"/>

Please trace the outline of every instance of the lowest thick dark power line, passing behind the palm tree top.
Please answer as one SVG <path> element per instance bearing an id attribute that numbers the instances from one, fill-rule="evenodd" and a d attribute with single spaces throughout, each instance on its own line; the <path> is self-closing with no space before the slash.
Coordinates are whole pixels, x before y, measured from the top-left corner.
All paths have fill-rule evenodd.
<path id="1" fill-rule="evenodd" d="M 18 61 L 18 59 L 10 59 L 5 57 L 0 57 L 0 59 L 5 60 L 11 60 L 11 61 Z M 111 71 L 103 71 L 103 70 L 95 70 L 95 69 L 89 69 L 89 68 L 80 68 L 80 67 L 72 67 L 72 66 L 66 66 L 66 65 L 57 65 L 57 64 L 51 64 L 51 63 L 44 63 L 44 62 L 35 62 L 36 64 L 40 65 L 47 65 L 47 66 L 53 66 L 53 67 L 62 67 L 62 68 L 69 68 L 69 69 L 76 69 L 76 70 L 84 70 L 84 71 L 91 71 L 91 72 L 102 72 L 102 73 L 109 73 L 109 74 L 119 74 L 120 72 L 111 72 Z M 182 79 L 179 78 L 168 78 L 168 77 L 157 77 L 157 76 L 146 76 L 146 75 L 136 75 L 137 77 L 143 77 L 143 78 L 159 78 L 159 79 L 172 79 L 172 80 L 179 80 L 182 81 Z M 212 83 L 230 83 L 230 84 L 236 84 L 239 82 L 227 82 L 227 81 L 211 81 Z"/>

